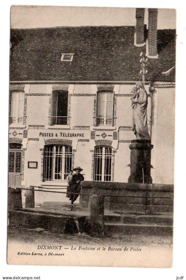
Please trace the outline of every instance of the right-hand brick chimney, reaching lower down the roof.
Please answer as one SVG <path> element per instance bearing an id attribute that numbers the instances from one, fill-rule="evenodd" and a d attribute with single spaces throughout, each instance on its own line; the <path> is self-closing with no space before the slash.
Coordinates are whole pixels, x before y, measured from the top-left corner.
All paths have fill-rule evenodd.
<path id="1" fill-rule="evenodd" d="M 148 10 L 149 10 L 149 27 L 148 27 L 147 57 L 158 58 L 158 49 L 157 49 L 158 9 L 148 9 Z"/>

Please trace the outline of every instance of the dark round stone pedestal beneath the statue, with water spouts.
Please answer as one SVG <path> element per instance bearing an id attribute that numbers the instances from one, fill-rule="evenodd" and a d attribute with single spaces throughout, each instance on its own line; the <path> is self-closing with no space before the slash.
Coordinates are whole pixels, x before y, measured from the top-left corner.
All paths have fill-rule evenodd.
<path id="1" fill-rule="evenodd" d="M 130 152 L 130 176 L 128 183 L 149 183 L 151 178 L 151 140 L 132 140 L 129 145 Z"/>

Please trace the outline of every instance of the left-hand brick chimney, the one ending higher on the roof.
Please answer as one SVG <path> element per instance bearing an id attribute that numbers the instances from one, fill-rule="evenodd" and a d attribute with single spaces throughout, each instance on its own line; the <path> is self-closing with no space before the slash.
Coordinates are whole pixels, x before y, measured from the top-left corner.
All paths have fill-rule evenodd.
<path id="1" fill-rule="evenodd" d="M 144 46 L 144 8 L 136 8 L 135 46 Z"/>

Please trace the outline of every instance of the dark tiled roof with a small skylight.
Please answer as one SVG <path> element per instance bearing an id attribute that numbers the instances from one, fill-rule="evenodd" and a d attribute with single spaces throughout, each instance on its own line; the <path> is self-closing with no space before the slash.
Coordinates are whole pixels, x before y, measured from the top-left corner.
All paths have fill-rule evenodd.
<path id="1" fill-rule="evenodd" d="M 175 30 L 158 31 L 158 59 L 148 60 L 146 80 L 175 81 Z M 141 80 L 134 27 L 55 27 L 11 30 L 11 81 Z M 61 53 L 75 53 L 71 62 Z"/>

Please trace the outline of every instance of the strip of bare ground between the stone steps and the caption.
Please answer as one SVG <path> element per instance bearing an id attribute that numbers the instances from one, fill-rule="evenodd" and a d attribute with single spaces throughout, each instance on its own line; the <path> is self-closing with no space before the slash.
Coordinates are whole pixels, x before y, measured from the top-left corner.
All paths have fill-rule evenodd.
<path id="1" fill-rule="evenodd" d="M 28 229 L 20 226 L 8 227 L 8 239 L 22 243 L 32 244 L 83 244 L 106 246 L 164 246 L 172 247 L 172 237 L 170 236 L 143 236 L 143 235 L 121 235 L 105 238 L 94 238 L 89 235 L 82 234 L 55 234 L 43 229 Z"/>

